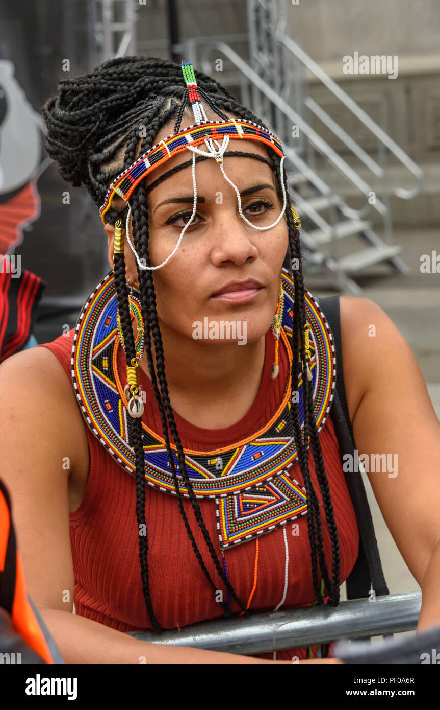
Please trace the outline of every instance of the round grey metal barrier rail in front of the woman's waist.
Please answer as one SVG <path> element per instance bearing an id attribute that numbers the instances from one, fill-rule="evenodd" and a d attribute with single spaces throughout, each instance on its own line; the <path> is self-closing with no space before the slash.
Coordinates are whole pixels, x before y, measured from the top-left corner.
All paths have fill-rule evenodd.
<path id="1" fill-rule="evenodd" d="M 185 626 L 180 632 L 132 631 L 150 643 L 194 646 L 210 651 L 255 654 L 337 640 L 389 635 L 416 628 L 422 593 L 377 596 L 375 601 L 342 601 L 336 608 L 313 606 L 239 616 Z"/>

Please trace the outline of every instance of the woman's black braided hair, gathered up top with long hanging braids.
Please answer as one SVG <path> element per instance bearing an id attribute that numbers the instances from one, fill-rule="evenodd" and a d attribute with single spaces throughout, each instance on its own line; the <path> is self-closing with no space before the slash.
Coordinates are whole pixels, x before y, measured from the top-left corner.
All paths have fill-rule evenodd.
<path id="1" fill-rule="evenodd" d="M 236 99 L 227 92 L 227 89 L 213 80 L 212 77 L 202 72 L 195 73 L 201 97 L 215 113 L 226 118 L 234 116 L 235 118 L 254 121 L 256 124 L 264 126 L 264 122 L 261 121 L 261 119 L 255 116 L 252 111 L 249 111 L 249 109 L 239 104 Z M 187 89 L 184 86 L 184 82 L 182 82 L 180 65 L 156 57 L 114 58 L 80 77 L 63 79 L 60 81 L 57 93 L 50 97 L 43 106 L 43 118 L 47 126 L 47 152 L 57 161 L 62 178 L 71 182 L 74 186 L 81 184 L 86 185 L 93 200 L 98 206 L 101 206 L 105 200 L 108 186 L 114 178 L 135 161 L 137 154 L 147 152 L 154 145 L 154 139 L 157 133 L 159 133 L 162 127 L 174 116 L 176 116 L 174 131 L 179 130 L 181 119 L 184 115 L 186 92 Z M 225 116 L 225 114 L 222 113 L 222 109 L 227 111 L 230 116 Z M 140 140 L 140 126 L 143 126 L 145 129 L 142 140 Z M 268 155 L 267 158 L 264 158 L 263 155 L 257 155 L 256 153 L 252 153 L 252 157 L 269 163 L 276 175 L 278 196 L 281 196 L 282 186 L 278 178 L 279 158 L 271 151 L 271 148 L 265 146 L 265 149 Z M 140 153 L 137 153 L 138 150 Z M 249 153 L 240 151 L 234 151 L 229 154 L 250 155 Z M 225 155 L 228 155 L 228 152 L 226 152 Z M 196 162 L 206 159 L 207 158 L 204 156 L 198 155 Z M 162 180 L 169 177 L 169 175 L 182 170 L 188 165 L 191 165 L 191 160 L 171 168 L 167 173 L 164 173 L 164 175 L 161 175 L 157 180 L 154 180 L 148 187 L 141 182 L 130 198 L 133 243 L 137 254 L 140 259 L 143 260 L 142 263 L 144 263 L 145 266 L 151 266 L 149 256 L 150 229 L 147 194 L 158 182 L 162 182 Z M 329 484 L 322 459 L 320 439 L 313 412 L 312 386 L 306 377 L 303 377 L 303 432 L 300 426 L 299 405 L 297 398 L 293 397 L 293 391 L 295 391 L 295 388 L 298 386 L 300 362 L 303 366 L 303 372 L 306 371 L 307 366 L 304 338 L 307 316 L 305 311 L 305 288 L 301 261 L 300 236 L 298 229 L 296 229 L 293 223 L 293 215 L 290 210 L 291 202 L 290 197 L 288 197 L 288 176 L 284 168 L 281 180 L 283 180 L 287 195 L 286 221 L 288 226 L 290 260 L 291 263 L 299 264 L 299 268 L 291 270 L 293 283 L 295 285 L 295 308 L 293 310 L 291 344 L 293 359 L 291 366 L 292 400 L 290 415 L 292 417 L 295 443 L 298 449 L 298 461 L 303 474 L 308 499 L 308 536 L 312 562 L 313 587 L 317 596 L 317 603 L 322 604 L 324 602 L 322 582 L 329 596 L 328 603 L 332 606 L 337 606 L 339 603 L 340 572 L 339 538 L 337 525 L 334 520 Z M 120 210 L 115 208 L 109 209 L 106 213 L 106 222 L 115 224 L 117 219 L 125 217 L 126 212 L 126 205 Z M 125 283 L 125 258 L 123 253 L 116 253 L 114 255 L 113 271 L 118 298 L 120 327 L 125 344 L 125 356 L 127 364 L 130 365 L 132 359 L 135 358 L 135 340 L 130 322 L 128 288 Z M 162 345 L 162 335 L 159 329 L 152 271 L 145 271 L 140 269 L 139 266 L 137 271 L 139 275 L 142 317 L 145 324 L 145 352 L 147 355 L 147 364 L 150 371 L 154 398 L 159 408 L 165 447 L 167 449 L 169 465 L 173 476 L 179 511 L 184 520 L 186 532 L 188 533 L 198 563 L 203 570 L 203 574 L 205 574 L 210 586 L 216 591 L 215 581 L 211 579 L 208 569 L 203 562 L 203 557 L 184 510 L 174 457 L 171 452 L 171 437 L 179 461 L 178 469 L 181 482 L 183 480 L 188 491 L 197 524 L 201 529 L 203 539 L 213 559 L 215 568 L 232 598 L 237 602 L 244 614 L 249 614 L 249 609 L 247 609 L 243 601 L 237 596 L 235 589 L 232 584 L 230 584 L 227 574 L 225 574 L 220 564 L 213 541 L 204 523 L 198 499 L 194 494 L 191 479 L 186 471 L 184 449 L 174 420 L 174 414 L 169 399 L 167 378 L 165 376 L 164 349 Z M 160 626 L 154 614 L 154 606 L 150 593 L 148 537 L 145 520 L 146 482 L 144 449 L 142 446 L 142 423 L 140 418 L 130 417 L 130 420 L 136 460 L 136 517 L 140 530 L 145 531 L 145 534 L 139 535 L 142 590 L 145 596 L 145 604 L 151 626 L 154 630 L 159 631 Z M 317 492 L 310 478 L 308 466 L 309 440 L 312 456 L 315 461 L 316 478 L 322 495 L 325 520 L 331 542 L 332 567 L 330 571 L 327 569 L 324 555 L 320 503 L 318 502 Z M 223 601 L 221 601 L 221 603 L 225 609 L 225 616 L 230 616 L 232 613 L 230 605 L 227 605 Z M 324 655 L 327 655 L 327 653 L 328 645 L 324 648 Z"/>

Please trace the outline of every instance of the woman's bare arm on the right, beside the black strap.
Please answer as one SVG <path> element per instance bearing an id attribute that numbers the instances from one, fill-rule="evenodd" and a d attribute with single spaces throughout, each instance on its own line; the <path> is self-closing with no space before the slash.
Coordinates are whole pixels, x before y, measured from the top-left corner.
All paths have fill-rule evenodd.
<path id="1" fill-rule="evenodd" d="M 422 588 L 425 628 L 440 621 L 440 422 L 410 346 L 378 305 L 343 297 L 341 327 L 359 457 L 374 464 L 368 478 L 385 523 Z"/>

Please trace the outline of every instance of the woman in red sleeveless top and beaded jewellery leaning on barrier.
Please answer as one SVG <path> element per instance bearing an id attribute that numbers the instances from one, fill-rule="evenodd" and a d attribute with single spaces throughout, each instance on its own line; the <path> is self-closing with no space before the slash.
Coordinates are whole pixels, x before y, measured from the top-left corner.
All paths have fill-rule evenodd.
<path id="1" fill-rule="evenodd" d="M 112 269 L 75 332 L 0 369 L 1 470 L 30 595 L 67 662 L 273 662 L 121 632 L 336 606 L 358 555 L 328 416 L 332 337 L 304 290 L 281 144 L 191 70 L 109 60 L 44 108 L 47 149 L 100 207 Z M 440 618 L 439 421 L 379 307 L 341 298 L 341 327 L 359 452 L 400 454 L 398 476 L 370 479 L 427 626 Z"/>

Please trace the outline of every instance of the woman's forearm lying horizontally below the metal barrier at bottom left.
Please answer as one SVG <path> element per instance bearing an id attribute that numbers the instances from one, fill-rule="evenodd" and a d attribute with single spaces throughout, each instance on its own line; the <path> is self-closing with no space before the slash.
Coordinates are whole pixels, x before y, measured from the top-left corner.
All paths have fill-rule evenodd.
<path id="1" fill-rule="evenodd" d="M 60 609 L 38 607 L 67 663 L 273 663 L 272 660 L 139 641 L 122 631 Z"/>

